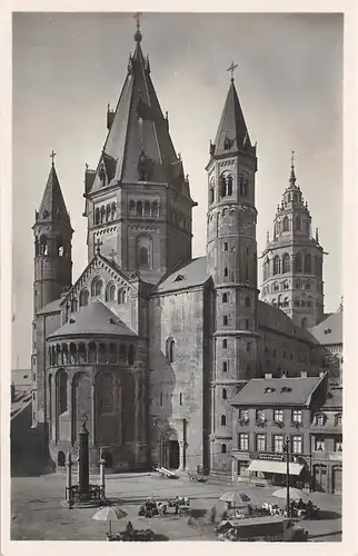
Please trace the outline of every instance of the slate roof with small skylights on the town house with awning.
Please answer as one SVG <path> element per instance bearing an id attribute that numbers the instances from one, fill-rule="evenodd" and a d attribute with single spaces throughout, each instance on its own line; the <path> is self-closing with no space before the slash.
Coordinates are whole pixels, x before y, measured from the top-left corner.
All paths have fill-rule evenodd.
<path id="1" fill-rule="evenodd" d="M 231 401 L 233 406 L 308 406 L 325 377 L 252 378 Z M 269 391 L 270 388 L 272 391 Z M 290 388 L 282 391 L 282 388 Z"/>

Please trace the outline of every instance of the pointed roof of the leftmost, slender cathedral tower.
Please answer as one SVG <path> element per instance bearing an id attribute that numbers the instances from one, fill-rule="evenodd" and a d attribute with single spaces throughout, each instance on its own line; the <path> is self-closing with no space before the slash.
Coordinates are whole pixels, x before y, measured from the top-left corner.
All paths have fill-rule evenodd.
<path id="1" fill-rule="evenodd" d="M 38 221 L 70 224 L 70 217 L 66 208 L 59 178 L 54 168 L 54 153 L 52 151 L 52 163 L 42 196 Z"/>

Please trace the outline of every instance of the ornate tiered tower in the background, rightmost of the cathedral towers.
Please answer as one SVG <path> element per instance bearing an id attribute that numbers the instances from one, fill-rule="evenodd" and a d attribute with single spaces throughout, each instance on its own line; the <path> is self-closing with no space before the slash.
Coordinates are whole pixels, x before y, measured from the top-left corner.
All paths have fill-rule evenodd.
<path id="1" fill-rule="evenodd" d="M 261 300 L 279 307 L 296 325 L 315 326 L 324 314 L 324 249 L 311 235 L 308 203 L 297 185 L 294 153 L 289 185 L 262 254 Z"/>

